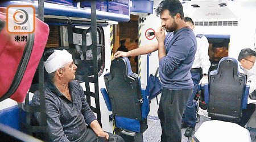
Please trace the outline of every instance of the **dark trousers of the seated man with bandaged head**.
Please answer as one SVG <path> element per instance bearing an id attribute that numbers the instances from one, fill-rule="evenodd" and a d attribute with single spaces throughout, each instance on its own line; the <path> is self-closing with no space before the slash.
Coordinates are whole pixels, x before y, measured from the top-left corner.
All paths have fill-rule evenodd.
<path id="1" fill-rule="evenodd" d="M 109 132 L 107 132 L 107 133 L 109 134 L 110 138 L 117 137 L 118 142 L 125 142 L 125 140 L 123 140 L 123 138 L 121 136 L 118 136 L 118 135 L 115 135 L 115 134 L 109 133 Z M 85 136 L 82 140 L 80 140 L 80 142 L 97 142 L 97 135 L 91 128 L 87 128 Z"/>

